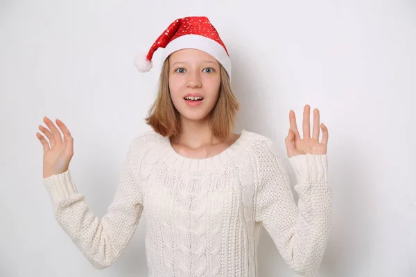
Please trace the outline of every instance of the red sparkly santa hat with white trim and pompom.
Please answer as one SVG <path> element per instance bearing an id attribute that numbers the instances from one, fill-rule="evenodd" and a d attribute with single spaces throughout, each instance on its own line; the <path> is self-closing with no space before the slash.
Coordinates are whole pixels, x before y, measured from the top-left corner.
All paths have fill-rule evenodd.
<path id="1" fill-rule="evenodd" d="M 152 69 L 153 53 L 164 48 L 162 63 L 171 53 L 184 48 L 194 48 L 214 57 L 231 78 L 231 61 L 225 44 L 207 17 L 184 17 L 176 19 L 150 47 L 146 57 L 138 55 L 135 65 L 140 72 Z"/>

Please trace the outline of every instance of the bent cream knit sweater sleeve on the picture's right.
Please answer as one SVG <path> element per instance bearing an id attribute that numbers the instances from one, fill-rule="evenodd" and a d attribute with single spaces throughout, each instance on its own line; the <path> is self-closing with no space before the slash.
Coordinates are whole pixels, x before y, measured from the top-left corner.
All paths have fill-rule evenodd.
<path id="1" fill-rule="evenodd" d="M 297 205 L 284 164 L 266 141 L 259 155 L 256 221 L 262 222 L 291 269 L 315 276 L 327 247 L 331 188 L 327 155 L 301 154 L 290 158 L 299 195 Z"/>

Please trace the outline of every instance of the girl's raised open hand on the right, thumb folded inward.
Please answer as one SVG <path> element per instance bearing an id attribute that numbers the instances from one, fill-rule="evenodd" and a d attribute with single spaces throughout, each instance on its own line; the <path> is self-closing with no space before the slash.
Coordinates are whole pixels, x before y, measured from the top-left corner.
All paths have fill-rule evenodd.
<path id="1" fill-rule="evenodd" d="M 303 136 L 300 138 L 296 126 L 295 112 L 289 112 L 289 123 L 291 125 L 288 136 L 286 136 L 286 150 L 288 157 L 300 154 L 327 154 L 328 128 L 324 123 L 320 124 L 319 110 L 313 110 L 313 132 L 311 137 L 309 115 L 311 107 L 305 105 L 303 114 Z M 322 129 L 322 140 L 319 142 L 320 128 Z"/>

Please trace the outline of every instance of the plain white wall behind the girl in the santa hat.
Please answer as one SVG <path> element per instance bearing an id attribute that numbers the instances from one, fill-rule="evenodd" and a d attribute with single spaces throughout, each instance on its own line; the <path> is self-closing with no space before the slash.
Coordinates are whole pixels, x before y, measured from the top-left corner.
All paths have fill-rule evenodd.
<path id="1" fill-rule="evenodd" d="M 329 128 L 331 229 L 318 276 L 416 276 L 415 1 L 0 1 L 0 276 L 147 276 L 146 222 L 98 270 L 60 229 L 42 184 L 42 118 L 74 138 L 70 168 L 98 216 L 155 97 L 135 55 L 178 17 L 206 15 L 233 63 L 235 132 L 277 145 L 305 104 Z M 302 135 L 302 128 L 300 128 Z M 297 195 L 295 194 L 297 200 Z M 263 230 L 259 276 L 296 274 Z"/>

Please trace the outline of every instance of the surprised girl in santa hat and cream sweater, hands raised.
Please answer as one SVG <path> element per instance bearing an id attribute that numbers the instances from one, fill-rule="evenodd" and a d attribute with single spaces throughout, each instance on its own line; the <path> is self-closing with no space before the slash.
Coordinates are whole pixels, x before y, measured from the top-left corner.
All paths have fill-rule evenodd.
<path id="1" fill-rule="evenodd" d="M 303 139 L 289 113 L 287 154 L 297 177 L 296 205 L 270 139 L 232 133 L 239 103 L 230 87 L 227 48 L 207 17 L 175 20 L 150 48 L 140 71 L 164 48 L 159 92 L 126 155 L 107 214 L 96 217 L 71 177 L 73 138 L 60 120 L 44 118 L 43 181 L 55 217 L 98 269 L 121 255 L 146 216 L 149 276 L 257 276 L 263 226 L 297 274 L 314 276 L 327 245 L 331 189 L 328 130 L 318 109 L 304 107 Z M 322 141 L 319 141 L 320 128 Z"/>

